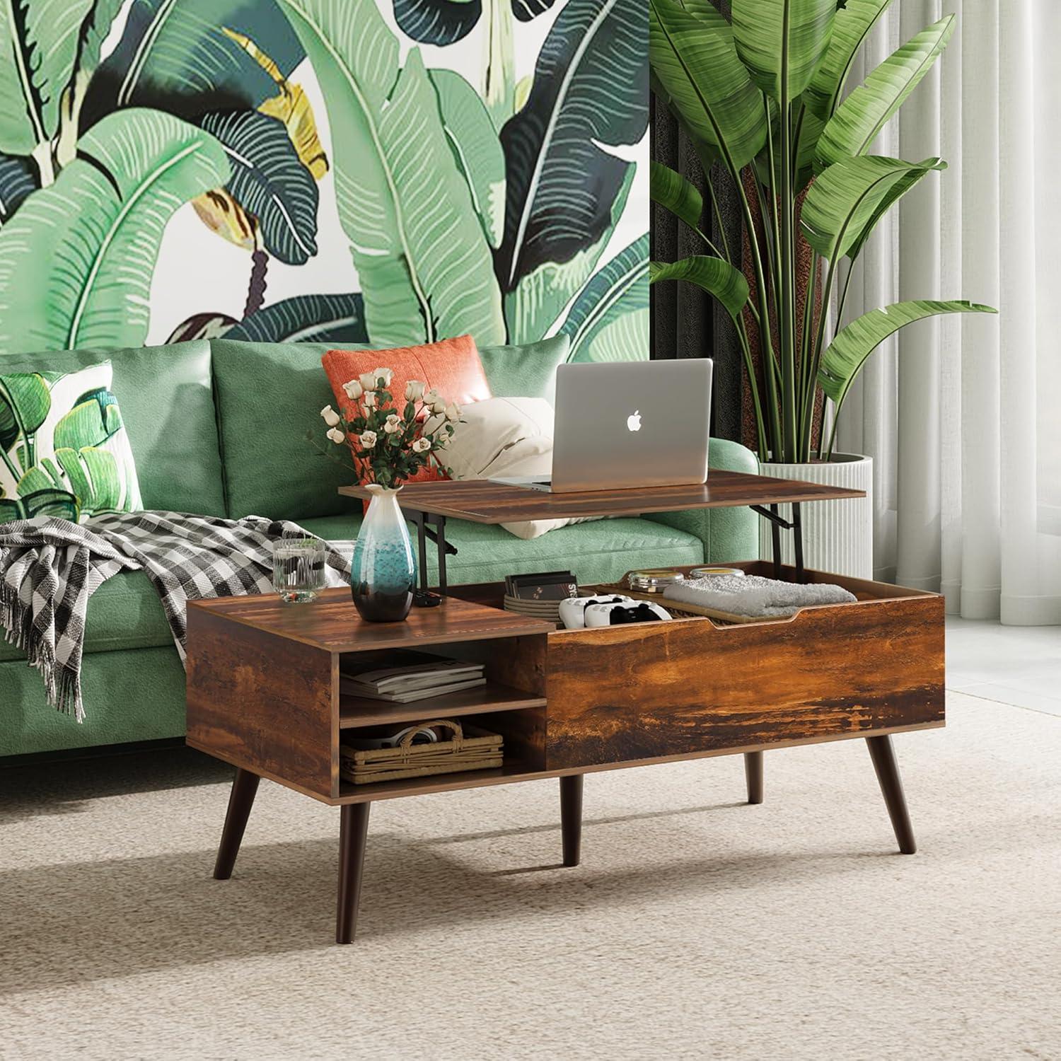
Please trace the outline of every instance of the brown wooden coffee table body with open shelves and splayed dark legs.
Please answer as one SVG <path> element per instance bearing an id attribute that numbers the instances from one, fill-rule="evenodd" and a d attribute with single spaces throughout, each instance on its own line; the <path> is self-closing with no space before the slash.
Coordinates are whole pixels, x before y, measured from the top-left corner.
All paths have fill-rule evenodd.
<path id="1" fill-rule="evenodd" d="M 761 483 L 773 493 L 750 484 L 764 491 L 751 503 L 837 495 Z M 798 499 L 794 488 L 803 490 Z M 563 863 L 575 866 L 585 773 L 744 754 L 748 800 L 758 803 L 764 750 L 850 737 L 866 738 L 900 850 L 912 853 L 890 734 L 943 725 L 942 598 L 759 560 L 736 566 L 835 581 L 858 599 L 733 626 L 694 618 L 587 630 L 501 610 L 500 584 L 451 587 L 437 607 L 394 624 L 363 622 L 344 589 L 303 606 L 272 595 L 190 604 L 188 743 L 237 767 L 214 875 L 231 875 L 260 778 L 338 805 L 336 939 L 350 942 L 376 800 L 559 778 Z M 410 647 L 483 662 L 487 684 L 401 706 L 340 692 L 351 657 L 383 665 Z M 502 734 L 501 767 L 368 785 L 340 776 L 348 730 L 467 716 Z"/>

